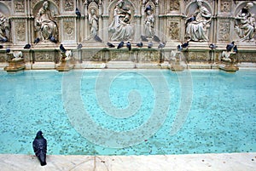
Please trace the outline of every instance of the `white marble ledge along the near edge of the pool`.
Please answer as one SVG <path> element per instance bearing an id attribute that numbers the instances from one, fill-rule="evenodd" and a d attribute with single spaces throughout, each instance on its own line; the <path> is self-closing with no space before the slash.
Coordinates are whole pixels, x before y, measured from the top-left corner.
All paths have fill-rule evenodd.
<path id="1" fill-rule="evenodd" d="M 253 171 L 256 152 L 166 156 L 61 156 L 48 155 L 40 166 L 32 155 L 0 155 L 2 171 Z"/>

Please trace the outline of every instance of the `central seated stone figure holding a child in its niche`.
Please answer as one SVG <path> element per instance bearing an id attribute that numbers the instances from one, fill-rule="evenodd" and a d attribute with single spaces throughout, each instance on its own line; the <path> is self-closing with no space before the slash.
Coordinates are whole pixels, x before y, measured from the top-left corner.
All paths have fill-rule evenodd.
<path id="1" fill-rule="evenodd" d="M 113 21 L 108 27 L 108 31 L 113 32 L 112 41 L 128 40 L 133 34 L 131 26 L 131 10 L 125 6 L 123 0 L 119 0 L 113 9 Z"/>

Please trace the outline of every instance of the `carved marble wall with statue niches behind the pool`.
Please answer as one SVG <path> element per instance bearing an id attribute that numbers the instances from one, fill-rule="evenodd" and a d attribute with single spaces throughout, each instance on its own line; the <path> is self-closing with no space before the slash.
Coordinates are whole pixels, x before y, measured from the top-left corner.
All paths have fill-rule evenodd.
<path id="1" fill-rule="evenodd" d="M 48 6 L 44 9 L 45 2 Z M 198 3 L 201 3 L 201 8 Z M 148 42 L 143 42 L 144 48 L 139 48 L 140 61 L 150 61 L 152 54 L 156 58 L 154 61 L 160 60 L 159 43 L 154 39 L 156 36 L 160 42 L 166 43 L 163 48 L 166 56 L 176 49 L 177 44 L 190 40 L 185 53 L 188 62 L 218 61 L 219 54 L 232 41 L 239 48 L 240 61 L 256 62 L 255 28 L 247 27 L 242 19 L 247 17 L 255 25 L 256 3 L 252 1 L 247 9 L 248 3 L 250 1 L 0 0 L 0 44 L 3 45 L 0 62 L 6 61 L 5 48 L 9 47 L 25 51 L 26 62 L 57 63 L 61 43 L 73 50 L 79 62 L 106 58 L 132 60 L 133 57 L 127 56 L 128 50 L 123 50 L 128 54 L 120 57 L 116 49 L 104 51 L 102 48 L 108 49 L 108 42 L 117 45 L 120 41 L 130 41 L 135 47 L 142 41 L 141 36 L 152 41 L 154 47 L 151 52 L 147 48 Z M 76 14 L 76 9 L 80 16 Z M 201 10 L 200 16 L 195 14 Z M 241 15 L 241 11 L 249 18 Z M 196 16 L 196 20 L 192 16 Z M 196 23 L 200 18 L 201 21 Z M 193 35 L 196 29 L 201 32 Z M 251 32 L 247 33 L 250 29 Z M 102 42 L 99 39 L 96 41 L 96 37 Z M 24 49 L 27 43 L 32 48 Z M 77 49 L 79 43 L 83 45 L 79 49 L 81 52 Z M 218 45 L 213 54 L 208 48 L 210 43 Z M 102 51 L 107 54 L 102 54 Z M 132 51 L 132 55 L 137 55 L 137 51 Z"/>

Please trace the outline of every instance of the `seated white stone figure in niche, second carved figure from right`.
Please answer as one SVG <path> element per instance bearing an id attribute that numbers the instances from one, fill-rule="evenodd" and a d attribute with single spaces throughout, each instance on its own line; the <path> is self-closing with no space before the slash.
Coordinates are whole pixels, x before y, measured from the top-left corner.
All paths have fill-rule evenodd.
<path id="1" fill-rule="evenodd" d="M 186 36 L 195 42 L 208 41 L 207 30 L 211 24 L 212 14 L 202 6 L 201 0 L 196 0 L 196 4 L 198 8 L 186 21 Z"/>

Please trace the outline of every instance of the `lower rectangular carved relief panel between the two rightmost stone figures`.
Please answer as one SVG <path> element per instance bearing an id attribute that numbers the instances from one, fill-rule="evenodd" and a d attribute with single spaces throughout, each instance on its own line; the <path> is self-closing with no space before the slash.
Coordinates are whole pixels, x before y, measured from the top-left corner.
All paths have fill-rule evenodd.
<path id="1" fill-rule="evenodd" d="M 218 25 L 218 41 L 229 41 L 230 37 L 230 21 L 223 20 Z"/>

